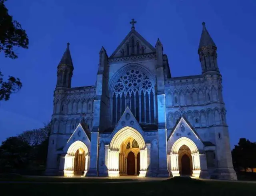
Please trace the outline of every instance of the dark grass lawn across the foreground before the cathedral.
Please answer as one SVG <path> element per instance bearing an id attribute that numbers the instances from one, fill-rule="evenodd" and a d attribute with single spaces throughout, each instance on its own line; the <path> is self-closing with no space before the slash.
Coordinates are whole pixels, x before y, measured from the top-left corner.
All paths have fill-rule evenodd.
<path id="1" fill-rule="evenodd" d="M 94 179 L 93 179 L 94 180 Z M 102 180 L 102 179 L 99 179 Z M 105 180 L 105 179 L 103 179 Z M 106 180 L 107 181 L 107 180 Z M 46 184 L 0 183 L 1 196 L 255 196 L 256 184 L 169 179 L 162 182 Z"/>

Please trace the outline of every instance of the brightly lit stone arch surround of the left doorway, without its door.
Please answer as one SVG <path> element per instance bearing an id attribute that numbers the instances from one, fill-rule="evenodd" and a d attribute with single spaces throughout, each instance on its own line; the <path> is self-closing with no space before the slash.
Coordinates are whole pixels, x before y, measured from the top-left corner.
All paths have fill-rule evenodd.
<path id="1" fill-rule="evenodd" d="M 79 151 L 77 153 L 77 151 Z M 84 176 L 88 170 L 88 164 L 90 162 L 89 151 L 87 146 L 82 141 L 75 141 L 70 145 L 68 148 L 67 154 L 65 156 L 65 164 L 64 164 L 64 176 L 74 176 L 74 164 L 75 164 L 75 158 L 76 154 L 82 154 L 83 160 L 84 160 Z"/>

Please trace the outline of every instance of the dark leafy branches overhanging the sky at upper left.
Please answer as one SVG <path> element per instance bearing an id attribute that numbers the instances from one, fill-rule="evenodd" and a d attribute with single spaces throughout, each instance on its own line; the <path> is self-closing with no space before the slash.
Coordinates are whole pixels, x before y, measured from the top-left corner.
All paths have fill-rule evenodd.
<path id="1" fill-rule="evenodd" d="M 0 52 L 4 52 L 5 57 L 11 59 L 18 58 L 14 49 L 16 47 L 28 48 L 28 36 L 22 29 L 20 23 L 12 19 L 8 14 L 8 9 L 4 5 L 6 0 L 0 0 Z M 22 83 L 19 78 L 9 76 L 4 81 L 3 74 L 0 71 L 0 101 L 9 100 L 12 93 L 18 92 Z"/>

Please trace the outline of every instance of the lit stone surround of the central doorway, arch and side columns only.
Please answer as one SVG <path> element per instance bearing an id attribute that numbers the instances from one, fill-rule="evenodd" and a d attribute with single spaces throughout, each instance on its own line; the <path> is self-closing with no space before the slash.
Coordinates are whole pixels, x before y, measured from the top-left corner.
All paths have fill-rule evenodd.
<path id="1" fill-rule="evenodd" d="M 136 129 L 132 127 L 124 127 L 120 129 L 112 138 L 108 150 L 108 175 L 119 176 L 119 154 L 120 147 L 128 138 L 133 138 L 137 141 L 140 150 L 140 176 L 146 175 L 148 168 L 148 154 L 146 143 Z"/>

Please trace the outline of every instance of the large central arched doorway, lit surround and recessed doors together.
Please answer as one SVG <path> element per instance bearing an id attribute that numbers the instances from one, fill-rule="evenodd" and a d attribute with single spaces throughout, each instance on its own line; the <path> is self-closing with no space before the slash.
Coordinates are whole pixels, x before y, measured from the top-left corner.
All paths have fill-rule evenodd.
<path id="1" fill-rule="evenodd" d="M 126 115 L 128 114 L 129 113 Z M 127 173 L 127 170 L 130 169 L 128 161 L 130 161 L 130 156 L 132 156 L 129 155 L 128 158 L 130 152 L 134 154 L 135 172 L 129 171 Z M 108 150 L 108 175 L 138 175 L 139 173 L 140 176 L 146 176 L 146 170 L 148 168 L 147 160 L 148 154 L 146 143 L 140 132 L 132 127 L 124 127 L 114 135 L 110 142 Z"/>

